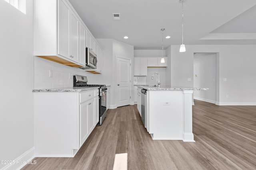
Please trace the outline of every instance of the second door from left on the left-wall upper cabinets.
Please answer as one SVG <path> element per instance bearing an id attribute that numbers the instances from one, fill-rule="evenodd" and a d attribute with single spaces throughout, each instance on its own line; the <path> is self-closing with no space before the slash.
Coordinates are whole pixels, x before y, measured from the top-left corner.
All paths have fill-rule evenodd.
<path id="1" fill-rule="evenodd" d="M 70 60 L 79 62 L 78 44 L 79 44 L 79 20 L 77 16 L 69 10 L 69 57 Z"/>

